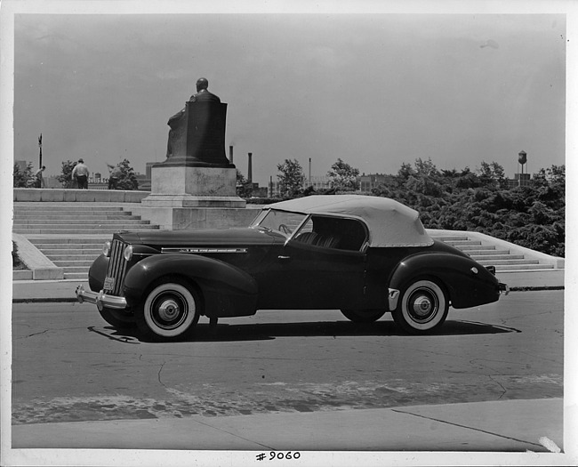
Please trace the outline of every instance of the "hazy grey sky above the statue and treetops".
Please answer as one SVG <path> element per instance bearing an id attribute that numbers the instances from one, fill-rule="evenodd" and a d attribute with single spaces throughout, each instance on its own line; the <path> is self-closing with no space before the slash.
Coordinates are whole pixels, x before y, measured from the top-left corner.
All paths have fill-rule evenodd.
<path id="1" fill-rule="evenodd" d="M 103 10 L 105 12 L 108 10 Z M 70 14 L 70 13 L 75 14 Z M 14 159 L 48 175 L 165 160 L 168 118 L 197 78 L 228 104 L 226 148 L 253 181 L 297 159 L 309 176 L 341 158 L 360 173 L 498 162 L 507 175 L 565 164 L 566 17 L 410 14 L 14 15 Z"/>

